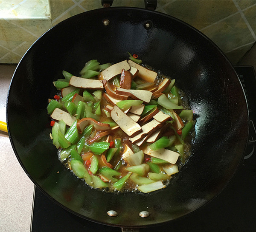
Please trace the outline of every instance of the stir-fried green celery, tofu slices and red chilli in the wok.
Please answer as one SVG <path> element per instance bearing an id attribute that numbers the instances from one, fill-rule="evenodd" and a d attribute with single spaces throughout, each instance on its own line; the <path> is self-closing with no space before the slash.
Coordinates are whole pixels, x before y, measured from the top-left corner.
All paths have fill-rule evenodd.
<path id="1" fill-rule="evenodd" d="M 63 71 L 49 99 L 59 159 L 94 188 L 152 192 L 166 187 L 189 157 L 193 112 L 184 94 L 131 56 L 88 61 Z"/>

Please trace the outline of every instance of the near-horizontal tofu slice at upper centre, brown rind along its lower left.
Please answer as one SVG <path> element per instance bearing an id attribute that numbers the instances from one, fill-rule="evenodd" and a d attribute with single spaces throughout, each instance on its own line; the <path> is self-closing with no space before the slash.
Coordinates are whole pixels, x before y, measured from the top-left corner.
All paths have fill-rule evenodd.
<path id="1" fill-rule="evenodd" d="M 122 94 L 125 96 L 129 96 L 135 100 L 142 100 L 144 102 L 150 102 L 152 92 L 148 90 L 138 90 L 138 89 L 123 89 L 123 88 L 116 88 L 117 94 Z"/>

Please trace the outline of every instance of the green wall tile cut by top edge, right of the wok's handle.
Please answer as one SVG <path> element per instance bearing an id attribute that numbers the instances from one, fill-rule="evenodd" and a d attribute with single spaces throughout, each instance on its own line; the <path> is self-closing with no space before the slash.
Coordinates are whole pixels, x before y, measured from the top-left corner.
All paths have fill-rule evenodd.
<path id="1" fill-rule="evenodd" d="M 201 29 L 238 10 L 232 0 L 176 0 L 159 1 L 167 14 Z"/>

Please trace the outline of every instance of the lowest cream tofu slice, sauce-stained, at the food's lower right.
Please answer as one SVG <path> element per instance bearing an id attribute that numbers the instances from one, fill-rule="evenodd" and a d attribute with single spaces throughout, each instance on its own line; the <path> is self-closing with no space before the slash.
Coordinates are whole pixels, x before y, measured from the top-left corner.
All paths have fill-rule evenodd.
<path id="1" fill-rule="evenodd" d="M 176 164 L 180 156 L 179 153 L 175 151 L 167 150 L 165 148 L 153 151 L 149 147 L 147 147 L 145 150 L 143 150 L 143 152 L 149 156 L 153 156 L 153 157 L 168 161 L 171 164 Z"/>

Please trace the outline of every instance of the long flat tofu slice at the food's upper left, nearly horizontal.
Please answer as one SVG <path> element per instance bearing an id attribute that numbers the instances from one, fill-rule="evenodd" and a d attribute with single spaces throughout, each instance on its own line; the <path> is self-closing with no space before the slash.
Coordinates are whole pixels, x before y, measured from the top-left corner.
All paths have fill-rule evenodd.
<path id="1" fill-rule="evenodd" d="M 100 80 L 86 79 L 77 76 L 70 78 L 70 85 L 77 88 L 92 89 L 92 90 L 104 90 L 103 83 Z"/>

